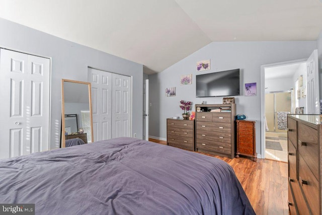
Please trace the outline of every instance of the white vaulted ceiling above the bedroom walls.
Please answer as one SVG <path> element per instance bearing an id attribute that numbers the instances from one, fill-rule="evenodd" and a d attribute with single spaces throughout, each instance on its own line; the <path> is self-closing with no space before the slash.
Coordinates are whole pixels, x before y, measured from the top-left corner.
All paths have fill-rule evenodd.
<path id="1" fill-rule="evenodd" d="M 0 17 L 163 71 L 212 41 L 316 40 L 319 0 L 0 0 Z"/>

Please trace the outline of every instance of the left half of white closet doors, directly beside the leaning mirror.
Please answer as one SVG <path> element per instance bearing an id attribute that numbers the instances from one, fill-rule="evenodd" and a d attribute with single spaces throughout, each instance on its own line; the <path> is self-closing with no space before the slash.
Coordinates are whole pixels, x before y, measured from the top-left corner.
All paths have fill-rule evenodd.
<path id="1" fill-rule="evenodd" d="M 92 84 L 94 141 L 112 138 L 112 74 L 88 68 Z"/>

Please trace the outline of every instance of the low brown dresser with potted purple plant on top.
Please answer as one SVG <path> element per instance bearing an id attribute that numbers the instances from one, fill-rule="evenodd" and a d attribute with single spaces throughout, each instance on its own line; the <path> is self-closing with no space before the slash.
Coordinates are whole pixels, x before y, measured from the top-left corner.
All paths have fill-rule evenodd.
<path id="1" fill-rule="evenodd" d="M 195 151 L 194 120 L 168 118 L 167 145 Z"/>

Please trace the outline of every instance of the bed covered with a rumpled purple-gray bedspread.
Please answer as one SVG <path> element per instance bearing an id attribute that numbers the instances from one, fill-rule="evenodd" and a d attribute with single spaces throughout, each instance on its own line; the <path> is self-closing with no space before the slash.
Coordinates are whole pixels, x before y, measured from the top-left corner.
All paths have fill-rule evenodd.
<path id="1" fill-rule="evenodd" d="M 137 138 L 0 160 L 0 203 L 36 214 L 255 214 L 232 168 Z"/>

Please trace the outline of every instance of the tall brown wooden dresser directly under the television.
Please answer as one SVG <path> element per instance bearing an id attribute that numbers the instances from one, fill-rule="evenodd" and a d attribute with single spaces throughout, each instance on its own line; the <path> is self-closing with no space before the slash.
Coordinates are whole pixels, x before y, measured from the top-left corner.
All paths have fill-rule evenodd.
<path id="1" fill-rule="evenodd" d="M 196 151 L 234 158 L 236 105 L 196 105 L 198 109 L 202 112 L 196 112 Z"/>

